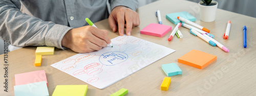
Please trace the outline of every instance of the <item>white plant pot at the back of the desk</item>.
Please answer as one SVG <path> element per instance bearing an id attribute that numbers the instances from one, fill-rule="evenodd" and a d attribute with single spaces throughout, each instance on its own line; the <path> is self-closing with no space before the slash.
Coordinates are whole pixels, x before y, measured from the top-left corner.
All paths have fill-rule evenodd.
<path id="1" fill-rule="evenodd" d="M 212 0 L 201 0 L 199 2 L 201 20 L 211 22 L 215 20 L 218 2 Z"/>

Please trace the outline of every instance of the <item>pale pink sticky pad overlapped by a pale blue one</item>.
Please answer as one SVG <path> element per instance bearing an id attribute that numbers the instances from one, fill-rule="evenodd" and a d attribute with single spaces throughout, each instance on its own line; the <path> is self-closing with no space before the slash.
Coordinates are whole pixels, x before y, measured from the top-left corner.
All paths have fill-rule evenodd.
<path id="1" fill-rule="evenodd" d="M 41 81 L 46 81 L 46 84 L 48 86 L 45 70 L 15 74 L 15 85 L 16 86 L 29 84 L 29 83 L 35 83 L 35 82 L 41 82 Z"/>

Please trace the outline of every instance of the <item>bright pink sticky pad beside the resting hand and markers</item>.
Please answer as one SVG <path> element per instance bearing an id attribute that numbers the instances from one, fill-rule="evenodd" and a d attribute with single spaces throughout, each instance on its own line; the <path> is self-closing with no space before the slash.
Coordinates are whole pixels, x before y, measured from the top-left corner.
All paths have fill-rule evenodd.
<path id="1" fill-rule="evenodd" d="M 170 30 L 172 30 L 172 26 L 151 23 L 140 30 L 140 34 L 163 37 Z"/>

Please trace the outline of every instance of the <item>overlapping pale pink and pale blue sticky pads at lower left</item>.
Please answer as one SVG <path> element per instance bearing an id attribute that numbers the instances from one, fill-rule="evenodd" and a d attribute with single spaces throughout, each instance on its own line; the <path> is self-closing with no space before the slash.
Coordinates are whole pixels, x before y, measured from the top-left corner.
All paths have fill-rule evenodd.
<path id="1" fill-rule="evenodd" d="M 15 95 L 49 95 L 45 70 L 16 74 Z"/>

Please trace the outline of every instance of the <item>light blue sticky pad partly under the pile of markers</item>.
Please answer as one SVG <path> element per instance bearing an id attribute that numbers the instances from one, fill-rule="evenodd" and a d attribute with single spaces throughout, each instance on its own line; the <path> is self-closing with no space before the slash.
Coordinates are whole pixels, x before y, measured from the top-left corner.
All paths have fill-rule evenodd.
<path id="1" fill-rule="evenodd" d="M 178 12 L 178 13 L 170 13 L 166 14 L 166 18 L 171 21 L 174 24 L 178 24 L 179 22 L 183 23 L 183 21 L 180 21 L 177 17 L 183 17 L 189 21 L 196 21 L 196 18 L 192 16 L 191 14 L 187 13 L 186 11 L 184 12 Z"/>

